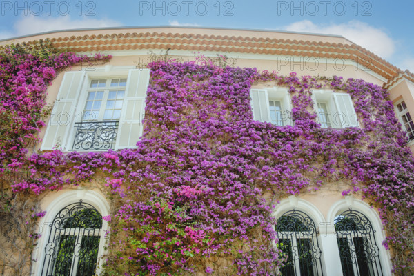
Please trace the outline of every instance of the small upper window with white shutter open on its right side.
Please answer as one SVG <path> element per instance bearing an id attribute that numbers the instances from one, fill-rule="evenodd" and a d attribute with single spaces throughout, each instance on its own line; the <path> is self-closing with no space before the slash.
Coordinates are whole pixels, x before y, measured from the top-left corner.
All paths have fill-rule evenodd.
<path id="1" fill-rule="evenodd" d="M 330 90 L 313 90 L 314 108 L 322 128 L 358 126 L 351 96 Z"/>

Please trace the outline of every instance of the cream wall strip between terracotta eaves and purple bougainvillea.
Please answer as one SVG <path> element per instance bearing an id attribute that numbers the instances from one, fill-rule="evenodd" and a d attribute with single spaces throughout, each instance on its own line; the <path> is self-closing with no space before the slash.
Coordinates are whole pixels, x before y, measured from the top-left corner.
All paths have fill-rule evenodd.
<path id="1" fill-rule="evenodd" d="M 112 55 L 112 61 L 115 66 L 140 64 L 145 66 L 150 60 L 148 54 L 153 52 L 157 55 L 164 55 L 165 50 L 120 50 L 120 51 L 102 51 L 102 54 Z M 90 55 L 90 52 L 81 52 L 81 54 Z M 200 52 L 201 55 L 215 59 L 217 52 Z M 235 61 L 234 66 L 257 68 L 258 70 L 275 70 L 281 75 L 287 75 L 290 72 L 297 72 L 297 75 L 339 76 L 344 79 L 364 79 L 365 81 L 382 86 L 387 80 L 377 75 L 372 70 L 365 68 L 352 59 L 321 59 L 315 57 L 298 57 L 298 56 L 281 56 L 281 55 L 259 55 L 259 54 L 242 54 L 242 53 L 218 53 L 230 57 L 229 61 Z M 199 55 L 199 54 L 197 54 Z M 187 50 L 170 50 L 168 59 L 178 59 L 179 61 L 195 61 L 197 55 Z M 316 62 L 315 62 L 316 61 Z"/>

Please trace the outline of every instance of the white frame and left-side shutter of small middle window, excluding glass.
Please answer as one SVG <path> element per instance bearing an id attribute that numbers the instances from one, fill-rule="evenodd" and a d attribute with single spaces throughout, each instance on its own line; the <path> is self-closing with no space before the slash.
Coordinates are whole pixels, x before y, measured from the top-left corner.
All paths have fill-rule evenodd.
<path id="1" fill-rule="evenodd" d="M 292 103 L 288 88 L 277 86 L 266 89 L 252 88 L 250 89 L 250 99 L 250 106 L 255 120 L 272 123 L 269 101 L 279 101 L 282 109 L 282 126 L 293 126 Z"/>

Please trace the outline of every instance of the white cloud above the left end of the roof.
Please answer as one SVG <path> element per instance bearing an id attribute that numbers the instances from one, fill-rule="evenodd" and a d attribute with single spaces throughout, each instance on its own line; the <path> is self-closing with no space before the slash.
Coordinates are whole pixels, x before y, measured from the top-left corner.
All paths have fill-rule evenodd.
<path id="1" fill-rule="evenodd" d="M 38 32 L 48 32 L 52 30 L 67 30 L 78 28 L 104 28 L 122 26 L 121 23 L 111 19 L 90 19 L 82 17 L 81 19 L 71 19 L 65 17 L 35 17 L 33 15 L 21 17 L 14 23 L 11 32 L 0 32 L 0 38 L 17 37 L 26 34 L 35 34 Z"/>

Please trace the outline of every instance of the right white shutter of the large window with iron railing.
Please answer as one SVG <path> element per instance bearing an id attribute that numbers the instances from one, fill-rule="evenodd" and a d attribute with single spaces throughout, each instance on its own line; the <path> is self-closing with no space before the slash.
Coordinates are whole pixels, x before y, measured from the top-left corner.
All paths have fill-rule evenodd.
<path id="1" fill-rule="evenodd" d="M 119 120 L 115 149 L 135 148 L 142 135 L 145 97 L 150 81 L 149 69 L 133 69 L 128 74 L 124 106 Z"/>

